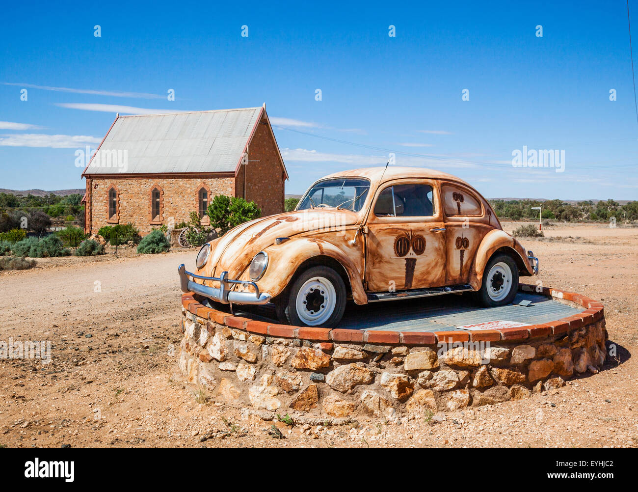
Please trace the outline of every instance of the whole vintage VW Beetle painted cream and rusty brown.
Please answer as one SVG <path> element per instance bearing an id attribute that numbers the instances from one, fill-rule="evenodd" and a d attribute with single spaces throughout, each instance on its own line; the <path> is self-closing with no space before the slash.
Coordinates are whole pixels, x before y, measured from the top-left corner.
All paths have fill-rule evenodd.
<path id="1" fill-rule="evenodd" d="M 329 175 L 293 212 L 204 244 L 181 288 L 223 304 L 274 302 L 282 322 L 334 327 L 356 304 L 473 291 L 508 304 L 538 259 L 463 180 L 386 166 Z"/>

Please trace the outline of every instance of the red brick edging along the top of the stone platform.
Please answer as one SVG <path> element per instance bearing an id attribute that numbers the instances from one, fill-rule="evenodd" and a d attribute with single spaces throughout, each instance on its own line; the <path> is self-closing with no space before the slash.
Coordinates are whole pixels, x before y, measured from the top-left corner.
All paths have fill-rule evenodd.
<path id="1" fill-rule="evenodd" d="M 579 304 L 586 310 L 582 313 L 561 318 L 549 323 L 529 325 L 523 327 L 503 328 L 496 330 L 479 331 L 363 331 L 360 329 L 343 328 L 313 328 L 290 325 L 279 325 L 250 318 L 237 317 L 211 309 L 200 304 L 192 292 L 182 295 L 182 306 L 197 317 L 211 320 L 220 325 L 226 325 L 235 329 L 243 329 L 249 333 L 268 335 L 278 338 L 298 338 L 316 342 L 366 342 L 382 343 L 384 345 L 434 345 L 436 343 L 450 343 L 456 341 L 521 341 L 525 339 L 543 338 L 572 332 L 597 322 L 604 318 L 604 306 L 601 302 L 574 292 L 565 292 L 557 288 L 537 287 L 535 285 L 519 284 L 521 292 L 535 292 L 545 297 L 555 297 L 564 301 Z"/>

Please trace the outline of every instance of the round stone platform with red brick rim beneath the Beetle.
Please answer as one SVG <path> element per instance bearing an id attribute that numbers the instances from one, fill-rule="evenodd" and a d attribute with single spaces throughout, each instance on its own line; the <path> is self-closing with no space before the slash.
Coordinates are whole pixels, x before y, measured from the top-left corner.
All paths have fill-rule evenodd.
<path id="1" fill-rule="evenodd" d="M 276 324 L 267 311 L 231 315 L 184 294 L 179 367 L 230 405 L 393 419 L 527 398 L 604 364 L 600 302 L 531 285 L 515 302 L 533 306 L 500 311 L 443 297 L 452 306 L 359 306 L 324 329 Z"/>

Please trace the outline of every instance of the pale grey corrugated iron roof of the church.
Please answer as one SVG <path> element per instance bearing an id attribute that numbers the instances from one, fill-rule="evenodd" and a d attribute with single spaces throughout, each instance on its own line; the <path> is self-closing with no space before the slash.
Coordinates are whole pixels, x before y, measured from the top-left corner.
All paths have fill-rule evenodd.
<path id="1" fill-rule="evenodd" d="M 119 116 L 84 174 L 235 172 L 261 110 Z"/>

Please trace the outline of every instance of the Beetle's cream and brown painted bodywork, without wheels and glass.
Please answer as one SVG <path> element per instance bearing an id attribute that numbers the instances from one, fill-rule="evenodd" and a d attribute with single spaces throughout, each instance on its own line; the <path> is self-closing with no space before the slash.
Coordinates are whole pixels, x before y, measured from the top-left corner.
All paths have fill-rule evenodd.
<path id="1" fill-rule="evenodd" d="M 336 177 L 369 180 L 359 211 L 315 207 L 249 221 L 209 243 L 207 262 L 195 273 L 219 278 L 228 272 L 227 278 L 245 282 L 230 288 L 251 292 L 249 266 L 263 251 L 267 268 L 255 284 L 269 299 L 281 294 L 306 265 L 326 264 L 347 280 L 353 301 L 366 304 L 378 300 L 375 293 L 459 285 L 479 290 L 486 264 L 496 251 L 514 258 L 519 275 L 537 272 L 531 252 L 503 231 L 487 200 L 456 176 L 389 166 L 339 172 L 322 180 Z M 410 184 L 432 187 L 431 215 L 375 214 L 383 190 Z M 215 285 L 212 280 L 200 283 Z"/>

